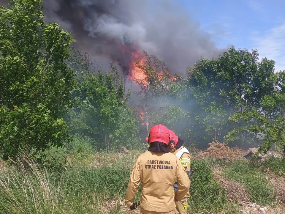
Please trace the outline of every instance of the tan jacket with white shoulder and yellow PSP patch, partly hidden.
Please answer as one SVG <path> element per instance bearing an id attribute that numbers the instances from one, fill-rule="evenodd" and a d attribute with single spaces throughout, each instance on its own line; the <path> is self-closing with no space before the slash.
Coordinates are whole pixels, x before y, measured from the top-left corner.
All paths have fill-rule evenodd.
<path id="1" fill-rule="evenodd" d="M 188 175 L 188 177 L 189 177 L 189 179 L 190 179 L 191 157 L 190 157 L 189 151 L 188 151 L 185 147 L 181 146 L 180 148 L 178 148 L 177 150 L 175 150 L 175 151 L 173 152 L 173 154 L 176 155 L 176 156 L 179 158 L 179 160 L 180 160 L 182 166 L 185 168 L 186 173 L 187 173 L 187 175 Z M 177 182 L 175 182 L 175 184 L 174 184 L 173 187 L 174 187 L 174 191 L 176 191 L 177 188 L 178 188 Z M 183 200 L 188 200 L 189 197 L 190 197 L 190 193 L 189 193 L 189 190 L 188 190 L 188 192 L 186 193 L 186 195 L 183 197 Z"/>

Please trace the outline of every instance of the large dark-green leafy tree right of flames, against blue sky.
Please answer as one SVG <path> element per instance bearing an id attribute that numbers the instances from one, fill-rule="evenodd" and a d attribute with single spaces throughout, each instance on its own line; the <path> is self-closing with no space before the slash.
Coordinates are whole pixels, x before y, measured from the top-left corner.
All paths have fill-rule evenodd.
<path id="1" fill-rule="evenodd" d="M 202 130 L 214 140 L 222 140 L 232 128 L 245 125 L 243 121 L 227 120 L 234 111 L 258 110 L 266 103 L 266 108 L 271 111 L 266 97 L 273 96 L 280 82 L 274 73 L 273 60 L 264 58 L 258 62 L 257 50 L 249 52 L 234 47 L 217 59 L 199 60 L 187 69 L 187 77 L 191 96 L 201 109 L 194 117 L 196 123 L 200 123 Z M 247 144 L 250 136 L 252 139 L 257 135 L 240 133 L 240 141 L 236 143 Z"/>

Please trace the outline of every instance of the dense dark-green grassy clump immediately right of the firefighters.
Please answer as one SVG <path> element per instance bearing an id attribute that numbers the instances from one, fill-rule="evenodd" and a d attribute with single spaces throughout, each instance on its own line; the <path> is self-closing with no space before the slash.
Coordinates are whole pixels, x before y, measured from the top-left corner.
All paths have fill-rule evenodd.
<path id="1" fill-rule="evenodd" d="M 211 168 L 204 159 L 191 161 L 191 188 L 189 205 L 192 210 L 221 210 L 227 201 L 226 191 L 213 180 Z"/>

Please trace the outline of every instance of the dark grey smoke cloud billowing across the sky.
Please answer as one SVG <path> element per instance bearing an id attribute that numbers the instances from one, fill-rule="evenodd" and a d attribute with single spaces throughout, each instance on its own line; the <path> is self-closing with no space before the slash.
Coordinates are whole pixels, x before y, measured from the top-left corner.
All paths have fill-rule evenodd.
<path id="1" fill-rule="evenodd" d="M 145 50 L 166 62 L 171 73 L 184 75 L 201 56 L 221 53 L 174 0 L 48 0 L 44 13 L 46 21 L 72 31 L 77 49 L 106 65 L 128 64 L 132 51 Z M 120 45 L 130 51 L 123 53 Z"/>

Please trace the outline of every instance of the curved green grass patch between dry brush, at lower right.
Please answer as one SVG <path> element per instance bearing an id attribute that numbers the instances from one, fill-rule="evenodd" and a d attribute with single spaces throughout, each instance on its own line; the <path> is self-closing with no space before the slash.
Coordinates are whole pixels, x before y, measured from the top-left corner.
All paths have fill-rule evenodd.
<path id="1" fill-rule="evenodd" d="M 276 190 L 269 184 L 264 172 L 253 164 L 235 161 L 227 166 L 224 175 L 242 184 L 250 194 L 252 202 L 262 206 L 277 204 Z"/>

